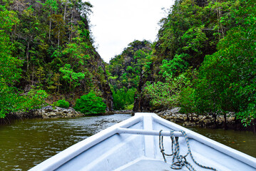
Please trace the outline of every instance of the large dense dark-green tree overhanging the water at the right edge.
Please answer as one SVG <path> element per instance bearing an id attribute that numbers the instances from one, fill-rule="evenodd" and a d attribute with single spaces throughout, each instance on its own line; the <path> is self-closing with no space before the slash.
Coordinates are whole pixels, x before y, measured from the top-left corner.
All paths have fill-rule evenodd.
<path id="1" fill-rule="evenodd" d="M 200 67 L 195 96 L 200 111 L 232 111 L 250 125 L 255 119 L 256 101 L 256 8 L 252 1 L 241 3 L 244 6 L 231 13 L 237 26 L 227 31 L 217 44 L 218 51 L 206 56 Z"/>

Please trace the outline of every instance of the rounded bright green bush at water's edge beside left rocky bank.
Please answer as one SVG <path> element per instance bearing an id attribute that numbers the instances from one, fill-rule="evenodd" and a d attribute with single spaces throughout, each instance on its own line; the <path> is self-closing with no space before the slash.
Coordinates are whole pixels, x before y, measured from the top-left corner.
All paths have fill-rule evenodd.
<path id="1" fill-rule="evenodd" d="M 98 114 L 105 112 L 106 104 L 102 98 L 97 97 L 95 93 L 91 92 L 78 98 L 74 109 L 86 115 Z"/>

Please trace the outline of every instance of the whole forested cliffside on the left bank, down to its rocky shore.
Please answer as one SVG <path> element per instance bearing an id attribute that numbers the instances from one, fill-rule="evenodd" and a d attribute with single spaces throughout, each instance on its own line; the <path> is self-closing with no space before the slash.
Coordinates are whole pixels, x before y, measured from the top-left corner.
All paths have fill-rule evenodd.
<path id="1" fill-rule="evenodd" d="M 0 2 L 0 118 L 45 101 L 73 104 L 91 90 L 106 93 L 88 26 L 91 7 L 81 0 Z"/>

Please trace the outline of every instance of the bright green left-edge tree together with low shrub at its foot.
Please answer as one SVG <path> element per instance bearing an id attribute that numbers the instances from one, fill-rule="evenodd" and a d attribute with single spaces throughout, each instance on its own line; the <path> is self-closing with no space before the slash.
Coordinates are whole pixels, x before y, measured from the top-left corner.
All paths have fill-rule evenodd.
<path id="1" fill-rule="evenodd" d="M 47 94 L 43 90 L 31 89 L 25 95 L 19 95 L 15 84 L 21 78 L 21 60 L 12 56 L 14 44 L 11 43 L 9 32 L 19 23 L 14 11 L 0 6 L 0 118 L 11 112 L 41 108 Z"/>

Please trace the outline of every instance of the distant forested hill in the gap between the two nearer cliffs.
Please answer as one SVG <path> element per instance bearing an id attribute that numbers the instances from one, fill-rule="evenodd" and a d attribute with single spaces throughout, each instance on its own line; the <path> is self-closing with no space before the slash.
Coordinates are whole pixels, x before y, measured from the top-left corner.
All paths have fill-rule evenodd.
<path id="1" fill-rule="evenodd" d="M 149 41 L 133 41 L 106 67 L 115 110 L 132 109 L 140 73 L 152 53 Z"/>

